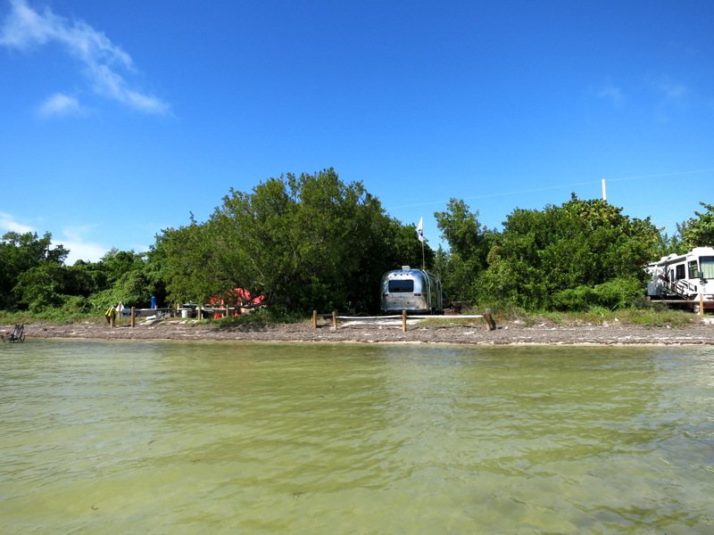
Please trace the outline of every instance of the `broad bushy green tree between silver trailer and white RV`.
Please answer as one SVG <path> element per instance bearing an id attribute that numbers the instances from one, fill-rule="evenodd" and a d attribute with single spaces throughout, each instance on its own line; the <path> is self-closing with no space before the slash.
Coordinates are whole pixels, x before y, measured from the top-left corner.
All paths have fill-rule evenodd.
<path id="1" fill-rule="evenodd" d="M 619 307 L 643 292 L 659 229 L 601 200 L 514 210 L 479 279 L 484 297 L 526 309 Z"/>

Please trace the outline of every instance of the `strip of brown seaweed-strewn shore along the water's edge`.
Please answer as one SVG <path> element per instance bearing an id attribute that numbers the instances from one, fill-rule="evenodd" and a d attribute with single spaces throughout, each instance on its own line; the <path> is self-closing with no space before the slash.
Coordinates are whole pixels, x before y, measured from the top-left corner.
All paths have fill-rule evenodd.
<path id="1" fill-rule="evenodd" d="M 540 325 L 525 326 L 518 322 L 497 325 L 488 331 L 483 319 L 467 320 L 461 325 L 448 318 L 420 325 L 410 319 L 403 332 L 401 319 L 339 320 L 337 329 L 331 321 L 320 320 L 318 328 L 311 323 L 270 325 L 197 324 L 195 320 L 162 318 L 137 321 L 131 327 L 122 318 L 110 327 L 92 322 L 71 325 L 35 322 L 25 326 L 26 341 L 37 338 L 82 338 L 112 340 L 191 340 L 241 342 L 359 342 L 359 343 L 456 343 L 479 345 L 502 344 L 661 344 L 714 345 L 714 318 L 696 320 L 682 328 L 669 326 L 618 325 Z M 0 326 L 8 335 L 12 325 Z"/>

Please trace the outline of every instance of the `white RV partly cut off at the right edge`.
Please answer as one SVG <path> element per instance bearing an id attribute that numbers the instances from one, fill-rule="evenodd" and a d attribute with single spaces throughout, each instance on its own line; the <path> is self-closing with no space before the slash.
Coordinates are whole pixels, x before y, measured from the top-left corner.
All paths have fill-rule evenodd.
<path id="1" fill-rule="evenodd" d="M 652 299 L 681 300 L 682 307 L 714 309 L 714 248 L 696 247 L 685 254 L 670 254 L 647 265 L 652 280 L 647 295 Z"/>

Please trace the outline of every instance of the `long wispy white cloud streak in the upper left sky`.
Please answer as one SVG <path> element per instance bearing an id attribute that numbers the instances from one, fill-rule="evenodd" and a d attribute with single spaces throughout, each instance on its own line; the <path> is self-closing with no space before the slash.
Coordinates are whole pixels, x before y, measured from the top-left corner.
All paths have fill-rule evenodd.
<path id="1" fill-rule="evenodd" d="M 135 71 L 131 56 L 120 46 L 112 44 L 103 32 L 84 21 L 69 21 L 55 15 L 49 8 L 36 11 L 27 0 L 10 0 L 10 4 L 12 11 L 0 29 L 0 45 L 29 50 L 56 43 L 80 62 L 89 85 L 98 95 L 147 113 L 169 111 L 169 104 L 129 85 L 122 73 Z M 74 100 L 79 106 L 79 101 Z M 62 101 L 55 101 L 54 104 L 62 104 Z M 71 102 L 65 100 L 64 104 L 66 106 Z M 66 107 L 63 109 L 68 110 Z"/>

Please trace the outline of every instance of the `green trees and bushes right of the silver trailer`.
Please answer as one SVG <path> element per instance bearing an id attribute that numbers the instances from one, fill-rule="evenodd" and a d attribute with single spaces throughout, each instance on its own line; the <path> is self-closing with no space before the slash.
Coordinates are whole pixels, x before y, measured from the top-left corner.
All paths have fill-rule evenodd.
<path id="1" fill-rule="evenodd" d="M 458 299 L 523 309 L 619 308 L 642 302 L 643 267 L 671 252 L 714 245 L 714 206 L 695 212 L 672 238 L 650 218 L 629 218 L 601 200 L 575 193 L 560 206 L 513 210 L 502 232 L 452 199 L 435 214 L 449 243 L 437 259 L 444 285 Z"/>

